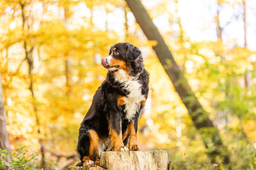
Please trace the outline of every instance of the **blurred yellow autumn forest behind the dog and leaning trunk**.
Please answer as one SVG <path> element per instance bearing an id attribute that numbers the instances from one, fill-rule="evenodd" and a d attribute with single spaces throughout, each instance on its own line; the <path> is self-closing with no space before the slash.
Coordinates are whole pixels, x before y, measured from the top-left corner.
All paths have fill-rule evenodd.
<path id="1" fill-rule="evenodd" d="M 256 1 L 142 4 L 218 128 L 233 169 L 256 169 Z M 101 58 L 117 42 L 139 47 L 150 73 L 140 147 L 169 150 L 175 169 L 213 169 L 213 143 L 205 147 L 152 50 L 156 42 L 124 0 L 0 1 L 0 106 L 11 152 L 26 145 L 48 169 L 78 163 L 78 129 L 107 74 Z"/>

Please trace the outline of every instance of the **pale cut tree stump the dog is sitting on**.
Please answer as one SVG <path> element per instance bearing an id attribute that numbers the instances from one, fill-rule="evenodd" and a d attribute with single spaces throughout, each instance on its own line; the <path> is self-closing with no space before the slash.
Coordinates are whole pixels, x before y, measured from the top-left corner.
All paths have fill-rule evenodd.
<path id="1" fill-rule="evenodd" d="M 102 152 L 99 166 L 72 167 L 68 170 L 167 170 L 168 163 L 167 151 Z"/>

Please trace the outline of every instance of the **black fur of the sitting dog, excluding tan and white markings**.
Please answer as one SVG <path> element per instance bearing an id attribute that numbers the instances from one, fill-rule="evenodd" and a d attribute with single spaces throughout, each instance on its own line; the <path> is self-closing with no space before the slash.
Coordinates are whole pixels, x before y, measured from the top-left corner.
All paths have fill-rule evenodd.
<path id="1" fill-rule="evenodd" d="M 113 55 L 113 49 L 117 50 L 119 55 Z M 134 79 L 136 77 L 139 84 L 141 84 L 141 91 L 137 91 L 137 93 L 141 93 L 147 98 L 149 92 L 149 74 L 146 72 L 146 69 L 144 69 L 142 52 L 137 47 L 134 47 L 134 45 L 122 42 L 111 47 L 110 55 L 112 55 L 115 60 L 125 62 L 128 68 L 125 71 L 129 74 L 129 77 L 134 77 Z M 139 113 L 143 106 L 139 106 L 137 113 L 134 114 L 132 119 L 128 120 L 126 118 L 126 106 L 117 106 L 117 98 L 118 96 L 127 97 L 131 91 L 127 90 L 127 86 L 125 86 L 124 82 L 121 83 L 117 81 L 115 78 L 116 72 L 119 72 L 119 69 L 107 72 L 106 80 L 103 81 L 99 89 L 97 89 L 92 100 L 92 105 L 85 115 L 85 118 L 82 120 L 77 147 L 81 160 L 78 166 L 82 166 L 83 157 L 87 157 L 90 152 L 89 130 L 95 130 L 100 140 L 108 139 L 110 138 L 110 124 L 115 132 L 122 132 L 124 135 L 124 132 L 127 130 L 127 125 L 134 122 L 134 129 L 137 132 Z M 120 121 L 122 122 L 122 128 L 119 125 Z M 123 140 L 124 146 L 127 145 L 128 142 L 129 136 Z M 112 148 L 112 146 L 105 146 L 103 151 L 109 147 Z M 96 160 L 99 157 L 99 153 L 95 152 L 90 159 Z"/>

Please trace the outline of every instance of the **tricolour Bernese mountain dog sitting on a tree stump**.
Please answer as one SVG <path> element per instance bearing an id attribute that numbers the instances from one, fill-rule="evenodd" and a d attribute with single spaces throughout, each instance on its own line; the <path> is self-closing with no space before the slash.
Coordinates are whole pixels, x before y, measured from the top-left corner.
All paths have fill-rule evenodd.
<path id="1" fill-rule="evenodd" d="M 142 52 L 120 42 L 102 58 L 107 79 L 97 89 L 89 111 L 82 120 L 77 166 L 93 166 L 103 151 L 139 151 L 139 113 L 149 94 L 149 73 L 144 69 Z M 127 148 L 128 147 L 128 148 Z"/>

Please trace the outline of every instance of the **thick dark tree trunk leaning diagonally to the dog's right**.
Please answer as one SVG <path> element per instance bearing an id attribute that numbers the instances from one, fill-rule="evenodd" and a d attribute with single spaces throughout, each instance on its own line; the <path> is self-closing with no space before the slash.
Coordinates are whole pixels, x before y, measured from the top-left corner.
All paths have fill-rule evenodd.
<path id="1" fill-rule="evenodd" d="M 228 150 L 223 145 L 218 128 L 215 128 L 213 122 L 208 117 L 208 113 L 204 111 L 201 103 L 199 103 L 195 94 L 191 90 L 182 70 L 174 61 L 174 57 L 171 55 L 169 48 L 149 17 L 149 14 L 146 12 L 141 1 L 126 1 L 132 13 L 134 13 L 137 23 L 139 23 L 139 26 L 141 26 L 144 34 L 146 35 L 146 38 L 148 38 L 148 40 L 155 40 L 158 42 L 153 49 L 156 52 L 159 61 L 163 65 L 166 74 L 174 84 L 181 101 L 188 109 L 188 113 L 193 120 L 193 124 L 201 134 L 203 143 L 207 148 L 207 154 L 210 158 L 210 162 L 220 163 L 217 160 L 217 157 L 220 157 L 220 160 L 223 160 L 223 164 L 228 165 L 230 163 Z"/>

